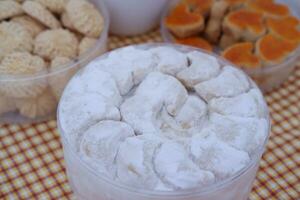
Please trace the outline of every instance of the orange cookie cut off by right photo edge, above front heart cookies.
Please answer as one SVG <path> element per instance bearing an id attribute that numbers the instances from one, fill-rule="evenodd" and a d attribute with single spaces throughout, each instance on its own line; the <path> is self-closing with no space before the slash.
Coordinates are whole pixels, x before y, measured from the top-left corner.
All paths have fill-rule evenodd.
<path id="1" fill-rule="evenodd" d="M 292 16 L 267 19 L 267 26 L 272 34 L 295 43 L 300 43 L 299 25 L 299 20 Z"/>

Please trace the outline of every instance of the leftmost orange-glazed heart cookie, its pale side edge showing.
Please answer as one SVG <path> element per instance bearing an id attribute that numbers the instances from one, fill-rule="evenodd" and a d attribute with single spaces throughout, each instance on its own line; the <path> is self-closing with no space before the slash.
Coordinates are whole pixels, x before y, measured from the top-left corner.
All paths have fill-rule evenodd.
<path id="1" fill-rule="evenodd" d="M 179 4 L 166 17 L 165 24 L 174 35 L 184 38 L 200 33 L 204 29 L 204 18 L 190 12 L 186 4 Z"/>

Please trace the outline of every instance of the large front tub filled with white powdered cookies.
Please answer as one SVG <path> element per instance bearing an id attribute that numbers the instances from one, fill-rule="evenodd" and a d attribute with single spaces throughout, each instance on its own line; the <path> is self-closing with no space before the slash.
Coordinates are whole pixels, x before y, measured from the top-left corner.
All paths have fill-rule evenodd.
<path id="1" fill-rule="evenodd" d="M 95 59 L 58 108 L 68 178 L 86 200 L 246 199 L 269 125 L 243 71 L 173 44 Z"/>

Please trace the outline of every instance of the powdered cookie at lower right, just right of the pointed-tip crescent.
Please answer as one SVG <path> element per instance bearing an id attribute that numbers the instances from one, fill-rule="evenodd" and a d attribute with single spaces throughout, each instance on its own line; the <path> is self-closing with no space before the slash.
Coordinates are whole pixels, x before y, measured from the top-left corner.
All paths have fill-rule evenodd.
<path id="1" fill-rule="evenodd" d="M 191 140 L 191 154 L 201 169 L 224 179 L 243 169 L 250 161 L 249 155 L 219 141 L 214 136 L 195 135 Z"/>

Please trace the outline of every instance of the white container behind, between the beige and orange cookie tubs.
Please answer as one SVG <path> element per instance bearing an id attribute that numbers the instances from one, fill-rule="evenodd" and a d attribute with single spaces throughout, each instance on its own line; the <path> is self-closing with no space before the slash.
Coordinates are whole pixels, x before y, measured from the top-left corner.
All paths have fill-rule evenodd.
<path id="1" fill-rule="evenodd" d="M 106 0 L 110 11 L 110 32 L 116 35 L 146 33 L 159 24 L 168 0 Z"/>

